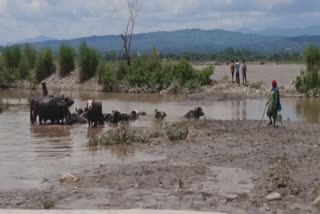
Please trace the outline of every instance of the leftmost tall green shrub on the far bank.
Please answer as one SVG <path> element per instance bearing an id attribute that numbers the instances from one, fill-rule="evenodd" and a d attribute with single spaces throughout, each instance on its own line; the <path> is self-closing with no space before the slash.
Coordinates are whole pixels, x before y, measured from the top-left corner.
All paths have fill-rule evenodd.
<path id="1" fill-rule="evenodd" d="M 2 51 L 4 65 L 9 70 L 16 69 L 21 59 L 21 49 L 19 46 L 6 47 Z"/>

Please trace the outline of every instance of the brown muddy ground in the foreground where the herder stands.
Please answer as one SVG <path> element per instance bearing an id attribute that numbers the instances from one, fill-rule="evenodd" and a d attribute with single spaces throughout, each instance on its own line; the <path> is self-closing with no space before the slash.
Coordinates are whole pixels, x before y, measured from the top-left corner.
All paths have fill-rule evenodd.
<path id="1" fill-rule="evenodd" d="M 319 213 L 319 124 L 187 122 L 186 140 L 159 127 L 136 130 L 150 141 L 135 149 L 158 157 L 72 172 L 78 182 L 48 179 L 43 190 L 0 191 L 0 208 L 189 209 L 226 213 Z M 130 146 L 131 147 L 131 146 Z M 125 153 L 130 147 L 121 147 Z M 112 149 L 112 148 L 111 148 Z M 121 152 L 120 152 L 121 153 Z M 278 201 L 267 201 L 271 192 Z"/>

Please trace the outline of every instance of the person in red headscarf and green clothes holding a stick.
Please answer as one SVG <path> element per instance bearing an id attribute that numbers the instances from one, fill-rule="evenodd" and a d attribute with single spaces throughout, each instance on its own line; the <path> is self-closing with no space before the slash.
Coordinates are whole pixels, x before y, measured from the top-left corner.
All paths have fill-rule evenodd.
<path id="1" fill-rule="evenodd" d="M 272 95 L 270 96 L 267 105 L 268 111 L 267 115 L 269 117 L 270 123 L 269 125 L 273 124 L 273 127 L 276 126 L 276 120 L 278 116 L 278 112 L 282 110 L 281 104 L 280 104 L 280 92 L 277 86 L 277 82 L 275 80 L 272 81 Z M 273 123 L 272 123 L 273 119 Z"/>

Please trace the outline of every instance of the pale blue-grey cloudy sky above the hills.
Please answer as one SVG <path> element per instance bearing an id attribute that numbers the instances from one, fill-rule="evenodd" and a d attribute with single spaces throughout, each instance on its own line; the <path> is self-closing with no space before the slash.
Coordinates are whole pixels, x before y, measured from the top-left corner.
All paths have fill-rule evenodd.
<path id="1" fill-rule="evenodd" d="M 120 34 L 127 0 L 0 0 L 0 43 Z M 318 25 L 320 0 L 139 0 L 136 33 Z"/>

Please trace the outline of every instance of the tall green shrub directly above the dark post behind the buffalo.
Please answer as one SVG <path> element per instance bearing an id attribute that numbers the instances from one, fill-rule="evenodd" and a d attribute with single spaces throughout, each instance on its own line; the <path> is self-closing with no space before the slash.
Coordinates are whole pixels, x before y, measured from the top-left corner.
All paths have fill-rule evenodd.
<path id="1" fill-rule="evenodd" d="M 54 56 L 51 49 L 43 49 L 40 52 L 35 68 L 35 79 L 37 82 L 40 82 L 55 72 L 53 61 Z"/>

